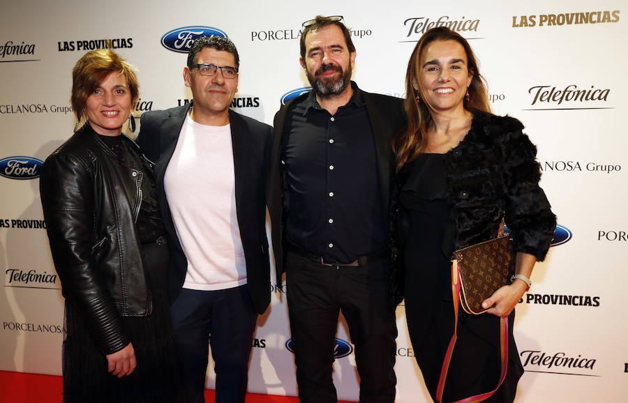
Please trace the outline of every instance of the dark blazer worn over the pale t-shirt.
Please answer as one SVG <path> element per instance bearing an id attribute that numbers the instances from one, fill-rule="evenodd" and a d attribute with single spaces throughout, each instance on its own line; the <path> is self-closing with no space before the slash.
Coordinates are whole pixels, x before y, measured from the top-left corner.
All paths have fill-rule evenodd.
<path id="1" fill-rule="evenodd" d="M 155 163 L 157 199 L 170 248 L 168 295 L 174 301 L 183 287 L 188 261 L 174 229 L 170 206 L 165 195 L 163 177 L 177 146 L 179 132 L 191 103 L 142 114 L 140 134 L 135 140 L 149 160 Z M 270 303 L 270 266 L 266 238 L 266 202 L 264 184 L 270 157 L 272 128 L 265 123 L 229 111 L 233 162 L 235 169 L 235 198 L 238 225 L 248 291 L 255 310 L 263 313 Z"/>

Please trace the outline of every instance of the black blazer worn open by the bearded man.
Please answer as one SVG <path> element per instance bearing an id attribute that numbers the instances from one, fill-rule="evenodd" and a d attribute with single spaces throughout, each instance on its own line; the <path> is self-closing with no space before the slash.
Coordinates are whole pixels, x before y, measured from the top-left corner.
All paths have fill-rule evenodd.
<path id="1" fill-rule="evenodd" d="M 389 225 L 388 208 L 390 201 L 390 184 L 394 174 L 394 156 L 392 152 L 392 138 L 395 133 L 405 126 L 405 112 L 403 110 L 403 100 L 391 96 L 384 96 L 375 93 L 360 91 L 360 96 L 366 105 L 368 119 L 371 121 L 373 141 L 375 142 L 375 153 L 377 158 L 377 178 L 380 185 L 380 197 L 382 200 L 382 219 Z M 285 116 L 287 112 L 298 102 L 307 98 L 308 93 L 301 94 L 294 98 L 275 114 L 274 128 L 275 137 L 271 154 L 271 166 L 269 168 L 269 178 L 267 184 L 267 201 L 271 218 L 272 230 L 271 238 L 275 254 L 275 268 L 277 284 L 281 284 L 281 275 L 285 271 L 283 266 L 285 241 L 283 227 L 285 215 L 283 209 L 283 172 L 281 165 L 281 138 L 285 128 Z M 386 233 L 389 234 L 388 227 Z"/>

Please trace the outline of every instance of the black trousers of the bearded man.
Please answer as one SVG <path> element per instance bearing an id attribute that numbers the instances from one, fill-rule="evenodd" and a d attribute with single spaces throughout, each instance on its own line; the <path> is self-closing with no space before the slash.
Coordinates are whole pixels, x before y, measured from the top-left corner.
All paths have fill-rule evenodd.
<path id="1" fill-rule="evenodd" d="M 285 266 L 299 400 L 338 400 L 331 372 L 342 310 L 355 347 L 360 402 L 394 402 L 397 328 L 388 259 L 361 267 L 323 266 L 288 251 Z"/>

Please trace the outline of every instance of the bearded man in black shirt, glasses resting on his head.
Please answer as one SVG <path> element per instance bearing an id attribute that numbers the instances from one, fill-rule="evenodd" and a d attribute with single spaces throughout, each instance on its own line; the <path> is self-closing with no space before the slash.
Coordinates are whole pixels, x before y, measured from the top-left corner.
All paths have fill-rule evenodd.
<path id="1" fill-rule="evenodd" d="M 301 402 L 336 402 L 334 338 L 343 312 L 360 402 L 394 402 L 389 290 L 391 139 L 403 100 L 352 82 L 356 51 L 342 17 L 304 23 L 301 66 L 313 91 L 277 112 L 268 204 L 277 282 L 286 272 Z"/>

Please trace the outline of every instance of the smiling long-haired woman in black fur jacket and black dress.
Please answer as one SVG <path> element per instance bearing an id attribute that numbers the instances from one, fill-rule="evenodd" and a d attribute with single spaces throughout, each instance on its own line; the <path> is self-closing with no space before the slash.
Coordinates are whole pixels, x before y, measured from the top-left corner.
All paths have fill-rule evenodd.
<path id="1" fill-rule="evenodd" d="M 442 402 L 498 386 L 500 317 L 509 324 L 509 362 L 504 382 L 486 402 L 512 402 L 523 374 L 511 330 L 514 306 L 529 287 L 534 263 L 545 258 L 556 222 L 539 188 L 536 147 L 519 121 L 491 114 L 469 44 L 444 26 L 427 31 L 414 47 L 406 92 L 408 128 L 394 139 L 391 228 L 393 251 L 401 251 L 396 303 L 405 298 L 414 355 L 437 400 L 454 333 L 451 256 L 495 238 L 505 220 L 515 240 L 518 276 L 484 301 L 488 314 L 460 312 Z"/>

